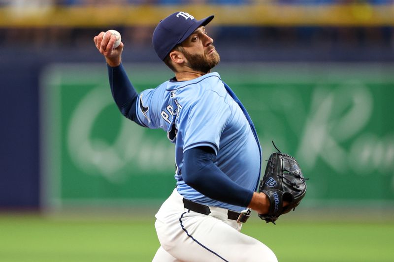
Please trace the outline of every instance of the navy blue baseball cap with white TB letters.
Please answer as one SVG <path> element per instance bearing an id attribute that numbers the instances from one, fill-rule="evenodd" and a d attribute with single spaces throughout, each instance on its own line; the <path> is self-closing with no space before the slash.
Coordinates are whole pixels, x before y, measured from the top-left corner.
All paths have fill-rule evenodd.
<path id="1" fill-rule="evenodd" d="M 176 12 L 159 22 L 153 32 L 152 43 L 160 59 L 164 58 L 177 45 L 182 43 L 200 26 L 212 21 L 213 15 L 196 20 L 186 12 Z"/>

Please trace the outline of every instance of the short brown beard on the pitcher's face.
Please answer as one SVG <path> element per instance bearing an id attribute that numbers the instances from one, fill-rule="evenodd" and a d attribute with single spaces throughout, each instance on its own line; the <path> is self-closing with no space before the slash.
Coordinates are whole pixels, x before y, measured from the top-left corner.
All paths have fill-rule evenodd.
<path id="1" fill-rule="evenodd" d="M 216 50 L 208 56 L 205 54 L 191 54 L 186 50 L 183 50 L 182 53 L 188 60 L 189 67 L 198 72 L 209 73 L 220 62 L 220 56 Z"/>

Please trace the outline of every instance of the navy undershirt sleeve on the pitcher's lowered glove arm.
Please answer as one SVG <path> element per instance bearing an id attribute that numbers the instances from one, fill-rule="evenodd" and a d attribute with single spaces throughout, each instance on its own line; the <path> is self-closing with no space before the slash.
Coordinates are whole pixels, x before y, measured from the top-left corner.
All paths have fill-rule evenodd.
<path id="1" fill-rule="evenodd" d="M 213 200 L 243 207 L 250 204 L 253 191 L 232 181 L 215 165 L 211 147 L 191 148 L 183 157 L 182 176 L 186 184 Z"/>

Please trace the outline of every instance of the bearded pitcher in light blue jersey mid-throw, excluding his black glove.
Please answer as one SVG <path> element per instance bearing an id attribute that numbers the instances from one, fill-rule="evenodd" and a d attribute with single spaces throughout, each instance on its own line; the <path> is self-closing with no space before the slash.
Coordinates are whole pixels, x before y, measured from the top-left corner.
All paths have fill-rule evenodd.
<path id="1" fill-rule="evenodd" d="M 175 145 L 176 188 L 156 214 L 160 248 L 154 262 L 276 262 L 260 241 L 240 233 L 253 209 L 267 213 L 257 193 L 262 150 L 246 109 L 220 75 L 205 26 L 176 12 L 160 21 L 153 47 L 175 77 L 137 93 L 122 65 L 123 43 L 104 32 L 94 42 L 105 57 L 121 113 L 147 128 L 162 128 Z M 135 148 L 138 150 L 138 148 Z"/>

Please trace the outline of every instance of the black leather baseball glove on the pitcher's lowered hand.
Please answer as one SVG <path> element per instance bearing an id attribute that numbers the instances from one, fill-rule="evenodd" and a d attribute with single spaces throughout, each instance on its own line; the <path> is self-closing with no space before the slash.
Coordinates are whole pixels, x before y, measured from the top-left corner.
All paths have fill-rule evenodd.
<path id="1" fill-rule="evenodd" d="M 269 157 L 259 186 L 259 192 L 267 195 L 270 203 L 268 213 L 259 214 L 259 217 L 273 224 L 280 215 L 294 210 L 300 203 L 306 193 L 307 180 L 302 175 L 296 159 L 282 153 L 276 146 L 275 148 L 278 152 L 272 153 Z M 284 202 L 288 205 L 283 206 Z"/>

